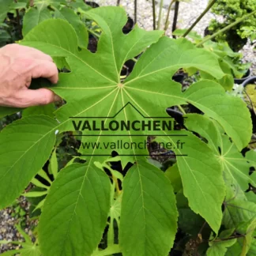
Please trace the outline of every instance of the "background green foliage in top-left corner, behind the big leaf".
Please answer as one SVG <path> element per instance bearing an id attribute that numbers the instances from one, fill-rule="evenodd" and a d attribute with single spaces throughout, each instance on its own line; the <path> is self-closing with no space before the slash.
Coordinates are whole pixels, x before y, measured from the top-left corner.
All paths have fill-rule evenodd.
<path id="1" fill-rule="evenodd" d="M 83 43 L 85 38 L 88 37 L 83 13 L 91 7 L 86 5 L 84 1 L 1 0 L 0 9 L 0 22 L 2 22 L 0 24 L 1 45 L 21 40 L 42 21 L 58 18 L 70 22 L 77 31 L 77 35 L 79 35 L 79 46 L 87 47 Z"/>

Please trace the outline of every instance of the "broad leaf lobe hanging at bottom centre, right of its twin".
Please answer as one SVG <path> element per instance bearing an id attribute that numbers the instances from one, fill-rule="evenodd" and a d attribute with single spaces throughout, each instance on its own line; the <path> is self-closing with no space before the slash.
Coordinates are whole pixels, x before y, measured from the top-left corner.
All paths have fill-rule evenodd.
<path id="1" fill-rule="evenodd" d="M 175 239 L 175 194 L 164 173 L 139 160 L 123 181 L 119 239 L 122 254 L 167 255 Z"/>

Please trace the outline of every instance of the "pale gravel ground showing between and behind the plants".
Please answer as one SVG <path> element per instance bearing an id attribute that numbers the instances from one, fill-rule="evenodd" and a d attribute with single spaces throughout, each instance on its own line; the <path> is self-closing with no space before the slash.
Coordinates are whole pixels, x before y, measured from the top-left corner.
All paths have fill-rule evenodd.
<path id="1" fill-rule="evenodd" d="M 115 6 L 116 0 L 96 0 L 95 2 L 99 3 L 100 6 Z M 152 29 L 152 5 L 151 2 L 145 0 L 137 0 L 137 23 L 141 28 L 145 28 L 146 30 Z M 164 0 L 165 3 L 168 3 L 169 0 Z M 194 22 L 196 17 L 205 9 L 207 5 L 207 0 L 191 0 L 189 3 L 180 2 L 179 5 L 179 13 L 183 13 L 183 16 L 179 15 L 178 18 L 178 28 L 188 28 L 190 24 Z M 123 6 L 127 13 L 129 13 L 130 17 L 134 18 L 134 2 L 130 0 L 121 0 L 121 6 Z M 159 6 L 156 6 L 156 13 L 158 13 Z M 164 15 L 162 19 L 162 27 L 164 25 L 164 20 L 167 14 L 167 6 L 164 6 Z M 170 21 L 173 19 L 173 11 L 171 11 Z M 205 28 L 208 26 L 209 21 L 211 19 L 219 18 L 216 17 L 213 13 L 207 13 L 205 17 L 196 25 L 194 30 L 198 32 L 201 36 L 203 36 Z M 171 27 L 171 26 L 170 26 Z M 170 28 L 168 29 L 168 36 L 171 35 Z M 247 43 L 245 47 L 243 47 L 243 60 L 245 62 L 252 62 L 252 68 L 254 75 L 256 75 L 256 51 L 254 51 L 254 46 L 251 46 L 250 43 Z M 28 204 L 24 201 L 24 198 L 20 199 L 20 205 L 23 205 L 25 211 L 28 211 Z M 17 232 L 14 225 L 17 224 L 17 216 L 13 216 L 15 210 L 13 208 L 7 208 L 6 210 L 0 211 L 0 240 L 7 239 L 11 240 L 22 240 L 21 235 Z M 28 223 L 28 217 L 24 216 L 24 221 L 27 227 L 31 224 Z M 29 228 L 25 228 L 25 232 L 32 235 L 32 232 Z M 14 249 L 17 246 L 11 245 L 0 245 L 0 254 L 6 249 Z"/>

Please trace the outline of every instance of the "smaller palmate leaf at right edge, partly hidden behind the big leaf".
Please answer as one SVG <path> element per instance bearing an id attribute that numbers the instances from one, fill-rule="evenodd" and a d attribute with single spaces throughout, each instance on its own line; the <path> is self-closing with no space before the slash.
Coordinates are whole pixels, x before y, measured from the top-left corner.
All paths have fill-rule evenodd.
<path id="1" fill-rule="evenodd" d="M 238 228 L 239 224 L 256 216 L 255 203 L 249 201 L 244 193 L 249 183 L 255 186 L 249 175 L 250 167 L 254 166 L 254 152 L 247 152 L 248 156 L 243 157 L 228 137 L 221 134 L 216 122 L 206 116 L 187 115 L 186 127 L 205 137 L 220 161 L 226 185 L 222 222 L 226 228 Z"/>

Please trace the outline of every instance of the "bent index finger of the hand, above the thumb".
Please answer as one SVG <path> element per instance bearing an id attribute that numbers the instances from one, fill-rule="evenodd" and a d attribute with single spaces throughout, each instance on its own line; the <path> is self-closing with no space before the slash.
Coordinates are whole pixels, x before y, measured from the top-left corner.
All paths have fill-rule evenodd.
<path id="1" fill-rule="evenodd" d="M 58 82 L 58 69 L 54 62 L 36 60 L 31 72 L 32 78 L 45 77 L 52 84 Z"/>

